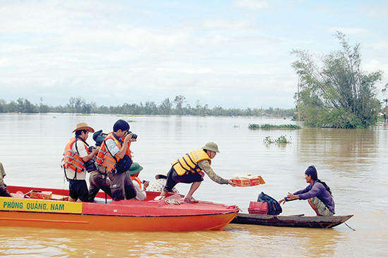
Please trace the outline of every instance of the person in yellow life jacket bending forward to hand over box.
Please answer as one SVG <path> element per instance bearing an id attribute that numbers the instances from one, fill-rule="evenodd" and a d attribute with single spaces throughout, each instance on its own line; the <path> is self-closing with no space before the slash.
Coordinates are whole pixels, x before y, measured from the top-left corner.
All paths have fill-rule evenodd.
<path id="1" fill-rule="evenodd" d="M 193 198 L 193 193 L 200 187 L 205 173 L 207 173 L 207 176 L 215 183 L 236 186 L 233 180 L 224 179 L 214 173 L 210 165 L 217 153 L 219 153 L 218 146 L 214 142 L 207 142 L 202 149 L 195 149 L 172 162 L 171 169 L 167 174 L 166 185 L 160 196 L 165 196 L 167 192 L 171 192 L 172 188 L 174 188 L 177 183 L 192 183 L 184 201 L 198 202 Z M 205 171 L 205 173 L 203 171 Z"/>

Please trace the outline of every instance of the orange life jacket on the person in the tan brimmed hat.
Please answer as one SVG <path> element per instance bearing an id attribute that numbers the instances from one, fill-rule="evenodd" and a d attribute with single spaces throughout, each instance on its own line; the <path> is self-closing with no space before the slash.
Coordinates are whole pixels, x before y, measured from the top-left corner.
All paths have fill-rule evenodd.
<path id="1" fill-rule="evenodd" d="M 73 171 L 80 173 L 85 170 L 85 165 L 83 163 L 84 162 L 83 159 L 80 157 L 80 154 L 78 152 L 73 152 L 73 148 L 72 148 L 73 145 L 75 145 L 75 149 L 77 149 L 77 145 L 76 145 L 77 140 L 81 140 L 83 142 L 86 152 L 87 154 L 89 154 L 89 149 L 87 149 L 87 143 L 78 137 L 73 137 L 68 141 L 65 147 L 65 151 L 63 152 L 61 167 L 71 168 L 73 169 Z"/>

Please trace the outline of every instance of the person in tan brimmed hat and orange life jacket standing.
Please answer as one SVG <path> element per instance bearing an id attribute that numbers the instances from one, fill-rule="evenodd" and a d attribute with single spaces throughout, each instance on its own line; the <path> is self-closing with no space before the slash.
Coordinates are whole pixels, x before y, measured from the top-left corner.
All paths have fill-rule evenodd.
<path id="1" fill-rule="evenodd" d="M 75 133 L 75 137 L 67 143 L 61 164 L 65 171 L 66 180 L 68 180 L 68 200 L 70 202 L 87 202 L 89 191 L 85 180 L 85 163 L 97 154 L 97 149 L 92 149 L 90 152 L 86 140 L 89 133 L 95 133 L 95 130 L 87 123 L 78 123 L 77 128 L 72 133 Z"/>

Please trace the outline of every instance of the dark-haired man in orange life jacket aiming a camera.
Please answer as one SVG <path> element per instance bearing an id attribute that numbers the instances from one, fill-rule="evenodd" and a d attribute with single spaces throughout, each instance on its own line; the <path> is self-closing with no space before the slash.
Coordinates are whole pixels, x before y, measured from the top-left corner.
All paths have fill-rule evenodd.
<path id="1" fill-rule="evenodd" d="M 132 164 L 131 142 L 136 137 L 129 132 L 129 124 L 119 119 L 113 125 L 113 132 L 109 133 L 99 147 L 97 164 L 102 173 L 108 173 L 111 180 L 111 197 L 115 201 L 136 197 L 128 169 Z"/>

